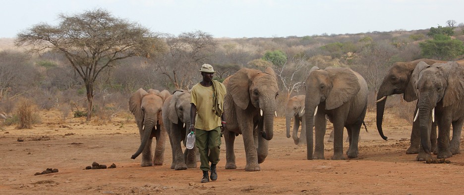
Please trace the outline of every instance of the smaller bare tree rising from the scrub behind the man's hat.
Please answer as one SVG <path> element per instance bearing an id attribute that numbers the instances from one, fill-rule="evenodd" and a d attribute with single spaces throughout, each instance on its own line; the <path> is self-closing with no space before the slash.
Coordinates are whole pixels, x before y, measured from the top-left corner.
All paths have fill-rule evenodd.
<path id="1" fill-rule="evenodd" d="M 182 33 L 177 37 L 168 34 L 166 44 L 168 52 L 157 57 L 155 63 L 157 70 L 169 78 L 175 89 L 187 89 L 192 84 L 195 76 L 192 71 L 200 69 L 208 53 L 212 53 L 217 45 L 212 35 L 202 31 Z"/>

